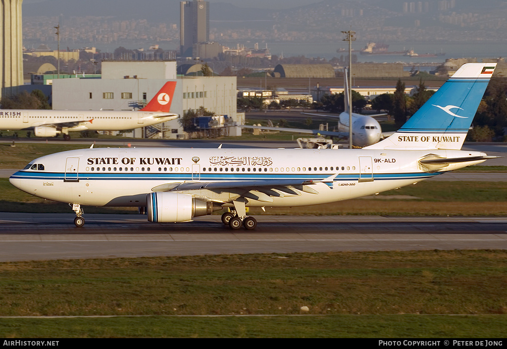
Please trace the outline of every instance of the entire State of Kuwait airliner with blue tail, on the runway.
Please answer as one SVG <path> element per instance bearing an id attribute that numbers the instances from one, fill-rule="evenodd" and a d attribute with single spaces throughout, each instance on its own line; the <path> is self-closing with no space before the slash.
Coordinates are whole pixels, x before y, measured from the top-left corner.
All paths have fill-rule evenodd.
<path id="1" fill-rule="evenodd" d="M 461 146 L 496 63 L 461 66 L 403 127 L 363 149 L 99 148 L 31 161 L 17 188 L 81 205 L 147 207 L 151 222 L 186 222 L 229 207 L 232 229 L 257 226 L 245 207 L 325 204 L 415 184 L 494 158 Z"/>

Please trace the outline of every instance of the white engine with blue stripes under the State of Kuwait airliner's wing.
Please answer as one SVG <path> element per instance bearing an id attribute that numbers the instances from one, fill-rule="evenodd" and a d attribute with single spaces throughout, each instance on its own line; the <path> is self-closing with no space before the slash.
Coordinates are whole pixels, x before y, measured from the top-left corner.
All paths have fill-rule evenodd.
<path id="1" fill-rule="evenodd" d="M 196 199 L 190 194 L 155 192 L 147 194 L 148 221 L 186 222 L 193 217 L 211 215 L 222 207 L 209 201 Z"/>

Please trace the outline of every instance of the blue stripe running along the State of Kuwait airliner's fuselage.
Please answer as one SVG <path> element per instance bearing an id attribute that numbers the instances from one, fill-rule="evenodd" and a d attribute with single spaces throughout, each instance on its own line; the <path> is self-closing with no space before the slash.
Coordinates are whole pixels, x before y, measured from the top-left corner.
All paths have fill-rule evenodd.
<path id="1" fill-rule="evenodd" d="M 20 175 L 19 173 L 22 173 Z M 445 172 L 409 172 L 409 173 L 373 173 L 375 180 L 397 180 L 397 179 L 419 179 L 419 178 L 430 178 L 437 175 L 441 175 Z M 328 178 L 333 173 L 315 173 L 311 174 L 277 174 L 274 173 L 234 173 L 234 175 L 226 173 L 201 173 L 200 182 L 212 182 L 212 181 L 279 181 L 279 180 L 321 180 Z M 83 173 L 80 174 L 82 181 L 192 181 L 192 173 L 121 173 L 122 176 L 118 176 L 118 173 Z M 129 176 L 129 177 L 127 177 Z M 63 173 L 42 173 L 42 172 L 16 172 L 11 178 L 15 179 L 33 179 L 33 180 L 64 180 Z M 342 173 L 339 174 L 334 181 L 356 181 L 359 179 L 359 173 Z"/>

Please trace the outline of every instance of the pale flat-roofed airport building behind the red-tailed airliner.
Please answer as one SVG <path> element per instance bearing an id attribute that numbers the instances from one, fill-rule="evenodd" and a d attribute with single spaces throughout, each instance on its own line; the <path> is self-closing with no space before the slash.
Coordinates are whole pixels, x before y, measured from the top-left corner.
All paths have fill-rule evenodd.
<path id="1" fill-rule="evenodd" d="M 183 77 L 176 75 L 175 61 L 102 61 L 101 78 L 54 79 L 54 110 L 134 110 L 142 108 L 168 81 L 176 81 L 171 113 L 183 116 L 201 106 L 216 115 L 227 115 L 242 124 L 244 113 L 236 109 L 236 77 Z M 230 135 L 241 135 L 231 127 Z M 143 127 L 126 135 L 185 138 L 178 120 Z"/>

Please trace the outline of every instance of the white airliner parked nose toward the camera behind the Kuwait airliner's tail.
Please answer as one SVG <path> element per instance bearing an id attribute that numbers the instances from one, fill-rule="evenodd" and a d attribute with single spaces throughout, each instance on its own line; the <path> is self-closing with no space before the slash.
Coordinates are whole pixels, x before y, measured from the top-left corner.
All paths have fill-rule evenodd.
<path id="1" fill-rule="evenodd" d="M 275 130 L 275 131 L 288 131 L 297 133 L 309 133 L 318 134 L 323 136 L 331 136 L 338 138 L 349 137 L 349 105 L 348 105 L 348 83 L 347 75 L 345 74 L 345 88 L 343 97 L 345 100 L 345 111 L 339 116 L 330 114 L 314 114 L 314 113 L 301 113 L 304 115 L 319 116 L 326 118 L 337 118 L 338 119 L 338 131 L 321 131 L 321 130 L 309 130 L 304 128 L 288 128 L 288 127 L 264 127 L 264 126 L 249 126 L 240 125 L 244 128 L 258 128 L 263 130 Z M 382 128 L 374 117 L 384 116 L 387 114 L 375 114 L 375 115 L 361 115 L 352 113 L 352 145 L 358 148 L 364 148 L 371 146 L 380 141 L 381 138 L 391 135 L 393 132 L 382 132 Z"/>

